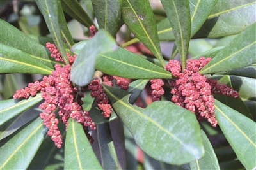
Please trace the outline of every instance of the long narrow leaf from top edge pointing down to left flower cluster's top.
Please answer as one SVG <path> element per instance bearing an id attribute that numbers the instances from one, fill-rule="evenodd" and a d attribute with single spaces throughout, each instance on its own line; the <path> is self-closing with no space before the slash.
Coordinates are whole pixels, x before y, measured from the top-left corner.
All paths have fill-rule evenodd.
<path id="1" fill-rule="evenodd" d="M 54 44 L 57 46 L 59 52 L 61 53 L 61 57 L 66 64 L 68 64 L 68 57 L 65 51 L 65 43 L 63 41 L 63 34 L 61 34 L 61 18 L 59 11 L 62 9 L 60 1 L 52 0 L 52 1 L 39 1 L 36 0 L 36 4 L 44 16 L 44 20 L 47 24 L 47 27 L 52 35 L 52 39 Z"/>

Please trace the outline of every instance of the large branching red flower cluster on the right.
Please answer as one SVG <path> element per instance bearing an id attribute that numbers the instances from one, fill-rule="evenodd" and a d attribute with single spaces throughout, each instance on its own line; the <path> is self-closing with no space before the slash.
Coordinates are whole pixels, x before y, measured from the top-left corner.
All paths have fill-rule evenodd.
<path id="1" fill-rule="evenodd" d="M 177 60 L 170 60 L 165 69 L 170 71 L 177 80 L 170 80 L 173 87 L 171 93 L 173 103 L 193 111 L 200 122 L 206 118 L 212 127 L 218 124 L 214 115 L 214 97 L 212 93 L 225 94 L 227 96 L 239 97 L 239 94 L 227 87 L 218 85 L 216 80 L 207 79 L 198 73 L 211 58 L 201 57 L 199 60 L 189 59 L 186 69 L 181 73 L 181 65 Z"/>

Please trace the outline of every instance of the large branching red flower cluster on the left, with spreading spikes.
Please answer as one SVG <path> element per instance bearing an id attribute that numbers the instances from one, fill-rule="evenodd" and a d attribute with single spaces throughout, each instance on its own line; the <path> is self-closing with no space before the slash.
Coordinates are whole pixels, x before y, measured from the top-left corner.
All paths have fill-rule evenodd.
<path id="1" fill-rule="evenodd" d="M 62 61 L 60 53 L 55 45 L 47 43 L 46 47 L 51 52 L 51 57 L 54 57 L 56 61 Z M 81 98 L 84 97 L 83 93 L 79 93 L 79 90 L 84 92 L 84 89 L 77 89 L 70 82 L 70 70 L 71 65 L 76 59 L 76 55 L 72 57 L 67 53 L 70 64 L 61 67 L 56 64 L 55 70 L 52 71 L 51 75 L 44 76 L 43 81 L 35 81 L 35 83 L 29 83 L 25 89 L 17 90 L 13 95 L 14 99 L 26 98 L 29 96 L 35 96 L 38 91 L 42 92 L 44 103 L 40 104 L 39 108 L 44 110 L 40 113 L 40 118 L 44 120 L 45 127 L 48 128 L 47 134 L 51 136 L 52 141 L 58 148 L 62 145 L 61 132 L 58 130 L 59 120 L 56 117 L 56 111 L 58 116 L 61 117 L 63 124 L 68 125 L 68 119 L 76 119 L 77 122 L 81 123 L 84 127 L 84 131 L 87 132 L 86 136 L 90 142 L 93 139 L 88 134 L 88 127 L 95 130 L 96 125 L 90 118 L 88 111 L 83 111 L 81 105 L 83 101 Z"/>

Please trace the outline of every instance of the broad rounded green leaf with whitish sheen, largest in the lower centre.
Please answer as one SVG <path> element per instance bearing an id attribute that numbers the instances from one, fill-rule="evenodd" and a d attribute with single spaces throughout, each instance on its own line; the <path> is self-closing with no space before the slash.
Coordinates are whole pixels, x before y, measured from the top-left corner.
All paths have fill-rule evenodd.
<path id="1" fill-rule="evenodd" d="M 129 104 L 124 90 L 104 85 L 104 91 L 137 145 L 150 157 L 180 165 L 204 155 L 199 125 L 190 111 L 169 101 L 156 101 L 143 109 Z"/>

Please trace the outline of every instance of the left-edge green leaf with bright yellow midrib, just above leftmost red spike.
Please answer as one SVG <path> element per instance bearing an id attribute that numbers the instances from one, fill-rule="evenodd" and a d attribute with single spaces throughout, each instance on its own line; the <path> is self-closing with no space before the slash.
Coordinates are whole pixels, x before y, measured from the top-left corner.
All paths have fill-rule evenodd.
<path id="1" fill-rule="evenodd" d="M 52 69 L 39 62 L 40 58 L 11 46 L 0 44 L 0 73 L 51 74 Z"/>

